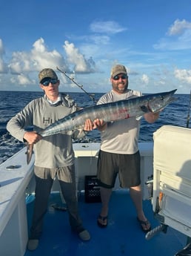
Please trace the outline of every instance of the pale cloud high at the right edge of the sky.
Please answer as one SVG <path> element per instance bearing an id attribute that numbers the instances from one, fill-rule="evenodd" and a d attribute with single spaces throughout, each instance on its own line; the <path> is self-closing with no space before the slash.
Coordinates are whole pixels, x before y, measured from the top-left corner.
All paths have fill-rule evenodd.
<path id="1" fill-rule="evenodd" d="M 191 49 L 191 22 L 176 19 L 164 37 L 153 45 L 155 50 L 187 50 Z"/>

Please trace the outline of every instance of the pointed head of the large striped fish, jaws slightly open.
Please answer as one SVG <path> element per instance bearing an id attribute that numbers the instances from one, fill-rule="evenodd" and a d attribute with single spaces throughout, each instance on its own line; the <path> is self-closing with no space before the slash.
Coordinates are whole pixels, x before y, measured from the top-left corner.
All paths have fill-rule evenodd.
<path id="1" fill-rule="evenodd" d="M 156 113 L 164 109 L 171 102 L 175 101 L 177 98 L 173 97 L 175 90 L 167 91 L 163 93 L 152 94 L 150 99 L 148 99 L 148 108 L 151 112 Z"/>

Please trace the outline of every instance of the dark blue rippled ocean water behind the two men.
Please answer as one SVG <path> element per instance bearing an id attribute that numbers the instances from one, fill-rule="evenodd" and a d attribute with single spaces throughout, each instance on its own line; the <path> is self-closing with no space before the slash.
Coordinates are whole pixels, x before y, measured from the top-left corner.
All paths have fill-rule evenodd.
<path id="1" fill-rule="evenodd" d="M 80 107 L 93 105 L 93 100 L 86 93 L 68 93 Z M 103 93 L 95 93 L 96 101 Z M 43 96 L 42 92 L 28 91 L 0 91 L 0 163 L 3 163 L 13 154 L 16 154 L 24 143 L 16 140 L 7 132 L 8 120 L 21 111 L 32 99 Z M 153 132 L 162 125 L 176 125 L 187 127 L 187 116 L 190 109 L 190 94 L 175 94 L 177 98 L 161 112 L 157 122 L 148 124 L 141 119 L 139 142 L 152 142 Z M 97 130 L 90 131 L 87 137 L 78 142 L 100 142 L 100 134 Z"/>

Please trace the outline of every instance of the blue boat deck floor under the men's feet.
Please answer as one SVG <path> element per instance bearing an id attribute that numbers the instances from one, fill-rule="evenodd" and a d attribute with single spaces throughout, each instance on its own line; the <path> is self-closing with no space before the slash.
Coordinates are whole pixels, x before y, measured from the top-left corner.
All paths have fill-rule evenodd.
<path id="1" fill-rule="evenodd" d="M 79 211 L 84 227 L 91 234 L 91 240 L 88 242 L 79 240 L 78 236 L 71 232 L 67 211 L 54 209 L 53 205 L 55 204 L 61 206 L 61 198 L 58 193 L 50 195 L 48 211 L 44 217 L 44 231 L 38 248 L 33 252 L 26 251 L 24 256 L 173 256 L 187 243 L 187 237 L 184 234 L 170 227 L 166 234 L 160 232 L 150 240 L 146 240 L 145 234 L 136 220 L 133 202 L 130 200 L 127 190 L 113 191 L 106 229 L 99 228 L 96 223 L 101 203 L 85 203 L 84 193 L 80 194 L 78 198 Z M 153 216 L 150 201 L 144 200 L 143 204 L 152 227 L 158 226 L 159 223 Z M 33 196 L 30 196 L 27 200 L 29 222 L 32 210 Z"/>

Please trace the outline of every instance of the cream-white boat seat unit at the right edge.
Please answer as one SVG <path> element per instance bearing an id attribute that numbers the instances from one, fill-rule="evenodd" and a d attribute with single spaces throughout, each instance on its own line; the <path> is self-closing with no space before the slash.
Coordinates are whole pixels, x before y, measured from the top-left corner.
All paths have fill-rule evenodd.
<path id="1" fill-rule="evenodd" d="M 153 140 L 155 217 L 191 237 L 191 129 L 164 125 Z"/>

